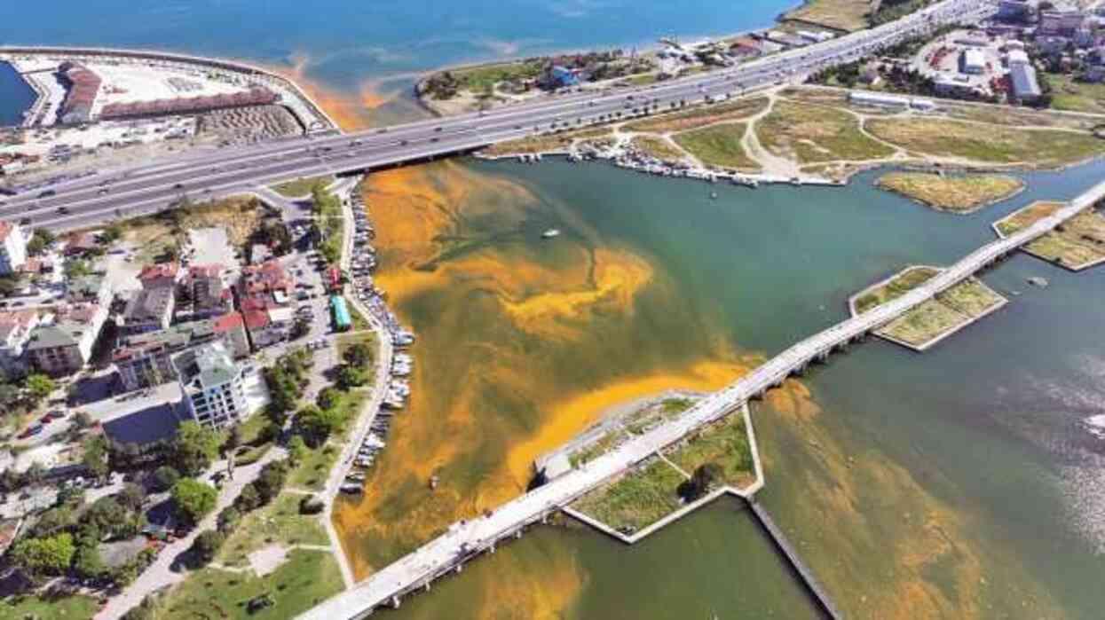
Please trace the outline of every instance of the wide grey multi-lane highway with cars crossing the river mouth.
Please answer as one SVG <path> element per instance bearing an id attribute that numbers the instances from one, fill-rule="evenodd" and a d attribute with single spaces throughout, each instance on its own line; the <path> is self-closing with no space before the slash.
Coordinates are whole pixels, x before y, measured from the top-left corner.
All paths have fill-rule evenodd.
<path id="1" fill-rule="evenodd" d="M 12 197 L 0 196 L 0 219 L 71 230 L 160 211 L 186 197 L 206 200 L 296 177 L 370 171 L 535 134 L 655 114 L 707 97 L 739 95 L 797 80 L 945 23 L 977 21 L 993 10 L 993 0 L 945 0 L 878 28 L 649 86 L 557 94 L 487 112 L 227 147 L 104 170 Z"/>

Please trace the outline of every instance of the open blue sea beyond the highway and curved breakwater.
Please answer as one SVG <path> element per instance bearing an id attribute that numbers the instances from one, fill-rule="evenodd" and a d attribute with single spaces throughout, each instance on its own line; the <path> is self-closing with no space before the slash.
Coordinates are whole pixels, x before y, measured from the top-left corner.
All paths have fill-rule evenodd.
<path id="1" fill-rule="evenodd" d="M 0 2 L 0 43 L 157 48 L 355 87 L 444 65 L 651 45 L 769 25 L 794 0 L 57 0 Z"/>

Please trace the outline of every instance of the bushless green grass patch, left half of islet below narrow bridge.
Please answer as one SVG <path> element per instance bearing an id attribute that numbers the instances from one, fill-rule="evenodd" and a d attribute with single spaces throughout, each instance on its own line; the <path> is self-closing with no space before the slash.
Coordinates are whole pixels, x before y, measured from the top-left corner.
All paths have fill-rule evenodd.
<path id="1" fill-rule="evenodd" d="M 571 506 L 619 532 L 635 532 L 680 508 L 675 490 L 686 480 L 660 459 L 600 486 Z"/>

